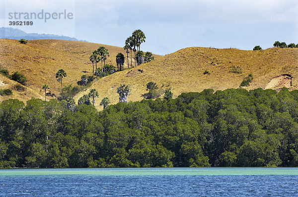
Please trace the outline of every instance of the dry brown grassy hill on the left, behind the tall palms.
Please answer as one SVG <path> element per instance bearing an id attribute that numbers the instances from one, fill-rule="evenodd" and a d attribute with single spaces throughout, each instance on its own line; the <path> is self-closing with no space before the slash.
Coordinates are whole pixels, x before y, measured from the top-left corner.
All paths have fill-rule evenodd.
<path id="1" fill-rule="evenodd" d="M 19 71 L 28 79 L 26 91 L 13 91 L 12 96 L 0 96 L 0 101 L 9 98 L 17 98 L 23 101 L 31 99 L 31 97 L 44 98 L 41 91 L 43 84 L 49 85 L 52 98 L 56 98 L 55 96 L 58 96 L 61 91 L 60 83 L 56 80 L 56 72 L 59 69 L 66 71 L 67 77 L 63 79 L 64 86 L 69 84 L 75 86 L 83 74 L 92 76 L 92 63 L 89 61 L 89 56 L 92 51 L 100 46 L 107 48 L 110 53 L 106 64 L 116 66 L 115 58 L 118 52 L 126 55 L 126 50 L 121 47 L 95 43 L 32 40 L 23 45 L 17 40 L 0 39 L 0 64 L 2 67 L 8 69 L 10 74 Z M 157 56 L 155 55 L 155 57 Z M 127 58 L 125 60 L 125 66 L 127 66 Z M 100 63 L 97 66 L 100 67 Z M 6 81 L 6 86 L 0 86 L 0 89 L 4 87 L 11 88 L 14 82 L 3 78 L 1 76 L 1 80 Z"/>

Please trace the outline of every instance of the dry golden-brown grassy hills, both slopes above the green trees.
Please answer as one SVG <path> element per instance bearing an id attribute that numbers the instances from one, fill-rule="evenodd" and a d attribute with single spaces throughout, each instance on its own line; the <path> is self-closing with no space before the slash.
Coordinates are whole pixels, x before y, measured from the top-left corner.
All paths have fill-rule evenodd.
<path id="1" fill-rule="evenodd" d="M 109 50 L 107 64 L 116 65 L 115 56 L 118 52 L 126 55 L 123 48 L 94 43 L 35 40 L 21 45 L 16 40 L 0 39 L 0 64 L 10 73 L 20 71 L 28 78 L 25 92 L 13 91 L 13 96 L 0 96 L 0 100 L 43 98 L 40 89 L 45 83 L 50 86 L 53 95 L 58 95 L 61 87 L 55 73 L 61 68 L 67 72 L 68 77 L 63 79 L 64 85 L 76 85 L 83 74 L 91 76 L 92 63 L 89 61 L 89 55 L 99 46 Z M 242 73 L 231 72 L 231 68 L 237 66 L 241 68 Z M 157 83 L 162 90 L 171 88 L 175 98 L 182 92 L 198 92 L 209 88 L 238 88 L 243 78 L 250 73 L 254 79 L 247 89 L 265 88 L 266 85 L 273 89 L 279 89 L 284 85 L 290 89 L 297 89 L 297 68 L 298 49 L 272 48 L 252 51 L 186 48 L 165 56 L 155 55 L 155 59 L 149 63 L 103 77 L 87 90 L 77 94 L 74 99 L 77 101 L 84 94 L 88 94 L 90 89 L 95 88 L 99 92 L 95 106 L 101 109 L 99 103 L 103 97 L 108 97 L 112 104 L 118 102 L 117 87 L 121 83 L 131 87 L 129 101 L 142 100 L 142 95 L 147 93 L 146 84 L 150 81 Z M 138 71 L 139 69 L 143 72 Z M 204 74 L 206 70 L 209 70 L 210 74 Z M 284 74 L 291 79 L 283 78 L 281 75 Z M 0 81 L 3 80 L 3 77 L 0 77 Z M 283 80 L 287 81 L 284 83 Z M 11 83 L 15 82 L 9 79 L 4 81 L 6 87 L 12 86 Z M 2 87 L 0 86 L 0 89 Z"/>

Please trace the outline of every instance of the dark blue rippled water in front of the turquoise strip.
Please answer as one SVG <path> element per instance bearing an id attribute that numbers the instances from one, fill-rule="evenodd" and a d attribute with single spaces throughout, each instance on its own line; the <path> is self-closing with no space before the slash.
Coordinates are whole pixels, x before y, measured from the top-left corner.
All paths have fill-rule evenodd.
<path id="1" fill-rule="evenodd" d="M 193 168 L 192 168 L 193 169 Z M 88 170 L 88 169 L 86 169 Z M 157 169 L 157 171 L 160 169 Z M 103 173 L 101 169 L 101 173 Z M 117 170 L 116 170 L 117 171 Z M 7 172 L 7 171 L 6 171 Z M 80 171 L 82 172 L 82 171 Z M 108 175 L 65 173 L 40 175 L 1 175 L 0 197 L 295 197 L 297 175 Z M 162 173 L 161 173 L 162 174 Z M 184 173 L 185 174 L 185 173 Z M 243 173 L 245 174 L 245 173 Z"/>

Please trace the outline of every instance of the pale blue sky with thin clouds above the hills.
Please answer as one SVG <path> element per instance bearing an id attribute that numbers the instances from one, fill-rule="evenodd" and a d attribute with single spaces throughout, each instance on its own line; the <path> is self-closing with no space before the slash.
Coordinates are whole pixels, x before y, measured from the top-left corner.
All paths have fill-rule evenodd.
<path id="1" fill-rule="evenodd" d="M 42 9 L 73 18 L 8 24 L 10 12 Z M 267 49 L 275 41 L 298 43 L 298 0 L 0 0 L 0 27 L 118 47 L 141 29 L 141 50 L 160 55 L 187 47 Z"/>

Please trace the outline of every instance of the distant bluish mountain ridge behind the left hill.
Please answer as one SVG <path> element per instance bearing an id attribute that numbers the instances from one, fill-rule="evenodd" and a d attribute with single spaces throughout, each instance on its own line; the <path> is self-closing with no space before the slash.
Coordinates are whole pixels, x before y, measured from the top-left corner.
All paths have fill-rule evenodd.
<path id="1" fill-rule="evenodd" d="M 14 29 L 10 27 L 1 27 L 0 28 L 0 38 L 20 40 L 21 38 L 26 40 L 41 40 L 41 39 L 57 39 L 57 40 L 66 40 L 66 41 L 83 41 L 77 40 L 76 38 L 68 36 L 58 36 L 55 34 L 36 34 L 36 33 L 26 33 L 19 29 Z"/>

